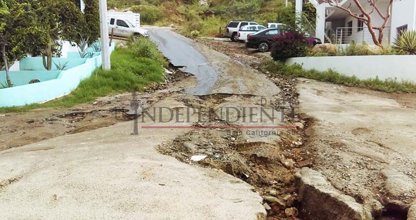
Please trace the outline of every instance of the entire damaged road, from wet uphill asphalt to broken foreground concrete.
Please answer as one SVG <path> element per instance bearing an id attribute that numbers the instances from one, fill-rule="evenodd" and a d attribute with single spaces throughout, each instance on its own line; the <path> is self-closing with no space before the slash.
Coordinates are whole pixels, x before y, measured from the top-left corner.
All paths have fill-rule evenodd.
<path id="1" fill-rule="evenodd" d="M 179 70 L 138 99 L 172 111 L 142 112 L 138 136 L 119 122 L 131 94 L 0 117 L 71 133 L 0 152 L 0 219 L 415 219 L 413 96 L 262 74 L 250 66 L 264 56 L 241 44 L 150 29 Z M 0 139 L 29 133 L 17 131 Z"/>

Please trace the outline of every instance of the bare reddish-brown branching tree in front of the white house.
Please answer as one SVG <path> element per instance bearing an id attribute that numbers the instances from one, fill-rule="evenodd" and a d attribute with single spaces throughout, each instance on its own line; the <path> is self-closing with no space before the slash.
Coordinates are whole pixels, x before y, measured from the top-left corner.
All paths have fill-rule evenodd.
<path id="1" fill-rule="evenodd" d="M 354 13 L 351 11 L 351 4 L 348 5 L 348 7 L 344 7 L 339 5 L 337 0 L 321 0 L 322 2 L 329 3 L 329 5 L 334 6 L 336 8 L 339 8 L 341 10 L 344 10 L 349 13 L 352 17 L 358 19 L 358 21 L 362 21 L 365 24 L 367 24 L 367 27 L 370 31 L 372 40 L 374 44 L 377 46 L 382 47 L 381 43 L 383 41 L 383 34 L 384 34 L 384 28 L 386 27 L 387 22 L 389 21 L 391 17 L 391 11 L 392 11 L 392 5 L 393 0 L 389 0 L 387 4 L 387 8 L 385 8 L 386 13 L 384 14 L 382 10 L 377 5 L 379 0 L 366 0 L 365 2 L 368 2 L 371 6 L 371 11 L 368 12 L 366 9 L 364 9 L 362 3 L 360 3 L 359 0 L 353 0 L 355 2 L 355 5 L 358 7 L 358 9 L 361 11 L 363 16 L 360 16 L 357 13 Z M 383 19 L 383 23 L 379 26 L 374 26 L 372 24 L 372 18 L 371 15 L 374 13 L 374 11 Z M 376 35 L 374 30 L 378 30 L 378 36 Z"/>

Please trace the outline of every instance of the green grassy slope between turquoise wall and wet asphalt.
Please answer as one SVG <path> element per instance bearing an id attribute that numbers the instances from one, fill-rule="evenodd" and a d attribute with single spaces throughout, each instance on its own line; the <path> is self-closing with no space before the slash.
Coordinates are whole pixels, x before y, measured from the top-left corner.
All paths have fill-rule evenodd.
<path id="1" fill-rule="evenodd" d="M 139 39 L 128 47 L 116 48 L 111 55 L 111 70 L 97 69 L 83 80 L 69 95 L 44 104 L 0 108 L 1 113 L 23 112 L 41 108 L 62 108 L 91 102 L 95 98 L 114 93 L 142 89 L 163 82 L 163 65 L 167 65 L 156 45 L 148 39 Z M 30 94 L 28 94 L 30 95 Z"/>

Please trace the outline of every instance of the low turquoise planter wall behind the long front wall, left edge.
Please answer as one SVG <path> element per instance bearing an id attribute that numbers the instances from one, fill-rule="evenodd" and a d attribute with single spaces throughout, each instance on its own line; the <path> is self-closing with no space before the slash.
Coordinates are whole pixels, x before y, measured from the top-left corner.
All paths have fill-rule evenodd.
<path id="1" fill-rule="evenodd" d="M 58 78 L 61 71 L 12 71 L 10 72 L 10 79 L 13 86 L 23 86 L 29 84 L 30 80 L 37 79 L 41 82 Z M 0 71 L 0 83 L 6 82 L 6 72 Z"/>

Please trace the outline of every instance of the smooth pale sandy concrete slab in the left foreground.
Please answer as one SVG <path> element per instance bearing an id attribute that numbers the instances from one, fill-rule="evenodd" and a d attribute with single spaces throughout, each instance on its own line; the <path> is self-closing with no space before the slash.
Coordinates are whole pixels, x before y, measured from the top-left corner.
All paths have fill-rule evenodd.
<path id="1" fill-rule="evenodd" d="M 183 107 L 174 98 L 159 105 Z M 156 152 L 186 130 L 130 135 L 131 127 L 118 123 L 2 151 L 0 178 L 9 182 L 0 189 L 0 219 L 264 218 L 247 183 Z"/>

